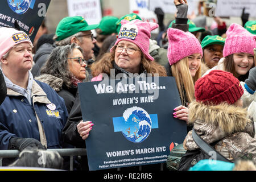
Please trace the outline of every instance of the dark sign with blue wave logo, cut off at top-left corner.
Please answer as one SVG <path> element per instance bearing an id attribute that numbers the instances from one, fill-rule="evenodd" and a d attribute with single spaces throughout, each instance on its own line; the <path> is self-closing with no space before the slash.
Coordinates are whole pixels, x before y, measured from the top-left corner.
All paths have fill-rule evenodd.
<path id="1" fill-rule="evenodd" d="M 31 42 L 46 16 L 51 0 L 5 0 L 0 2 L 0 27 L 14 27 L 15 20 L 20 30 L 26 32 Z"/>

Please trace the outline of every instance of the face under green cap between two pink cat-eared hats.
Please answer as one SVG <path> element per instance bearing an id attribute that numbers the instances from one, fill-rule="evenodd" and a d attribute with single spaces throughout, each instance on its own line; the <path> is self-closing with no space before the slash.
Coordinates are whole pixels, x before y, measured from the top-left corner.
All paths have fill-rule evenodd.
<path id="1" fill-rule="evenodd" d="M 209 68 L 215 67 L 218 61 L 223 57 L 223 47 L 224 46 L 213 44 L 204 48 L 204 61 Z"/>

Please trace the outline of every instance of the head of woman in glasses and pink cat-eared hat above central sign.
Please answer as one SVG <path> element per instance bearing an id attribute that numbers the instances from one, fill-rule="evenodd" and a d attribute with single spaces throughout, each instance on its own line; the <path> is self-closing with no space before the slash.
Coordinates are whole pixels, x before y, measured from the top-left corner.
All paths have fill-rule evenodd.
<path id="1" fill-rule="evenodd" d="M 130 28 L 130 27 L 135 28 Z M 136 29 L 137 27 L 137 29 Z M 102 73 L 110 76 L 113 69 L 114 77 L 122 74 L 121 77 L 131 77 L 137 74 L 146 77 L 148 73 L 154 76 L 166 76 L 164 67 L 154 61 L 148 53 L 150 32 L 158 27 L 158 24 L 151 24 L 135 19 L 129 22 L 122 21 L 122 27 L 114 46 L 110 49 L 108 56 L 92 64 L 92 81 L 99 80 Z M 130 28 L 130 30 L 129 30 Z"/>

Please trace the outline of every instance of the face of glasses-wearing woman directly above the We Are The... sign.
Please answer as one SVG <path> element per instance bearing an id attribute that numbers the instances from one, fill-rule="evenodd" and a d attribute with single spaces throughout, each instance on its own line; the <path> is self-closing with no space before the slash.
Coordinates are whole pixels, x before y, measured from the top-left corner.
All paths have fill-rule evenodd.
<path id="1" fill-rule="evenodd" d="M 115 48 L 115 64 L 131 73 L 139 73 L 141 67 L 141 50 L 126 40 L 122 40 Z"/>

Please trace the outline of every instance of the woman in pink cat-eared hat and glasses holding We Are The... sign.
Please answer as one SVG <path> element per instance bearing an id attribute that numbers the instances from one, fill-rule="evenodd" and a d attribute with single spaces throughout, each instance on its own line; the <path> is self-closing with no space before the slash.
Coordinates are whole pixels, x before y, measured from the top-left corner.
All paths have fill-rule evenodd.
<path id="1" fill-rule="evenodd" d="M 121 23 L 121 31 L 109 56 L 104 56 L 104 59 L 92 65 L 92 75 L 95 76 L 92 81 L 116 77 L 166 76 L 164 67 L 155 63 L 154 58 L 148 53 L 151 31 L 157 28 L 158 24 L 138 19 L 130 22 L 122 20 Z M 75 104 L 63 130 L 64 139 L 76 147 L 85 147 L 84 140 L 88 138 L 92 129 L 91 121 L 82 121 L 80 96 L 77 93 Z"/>

